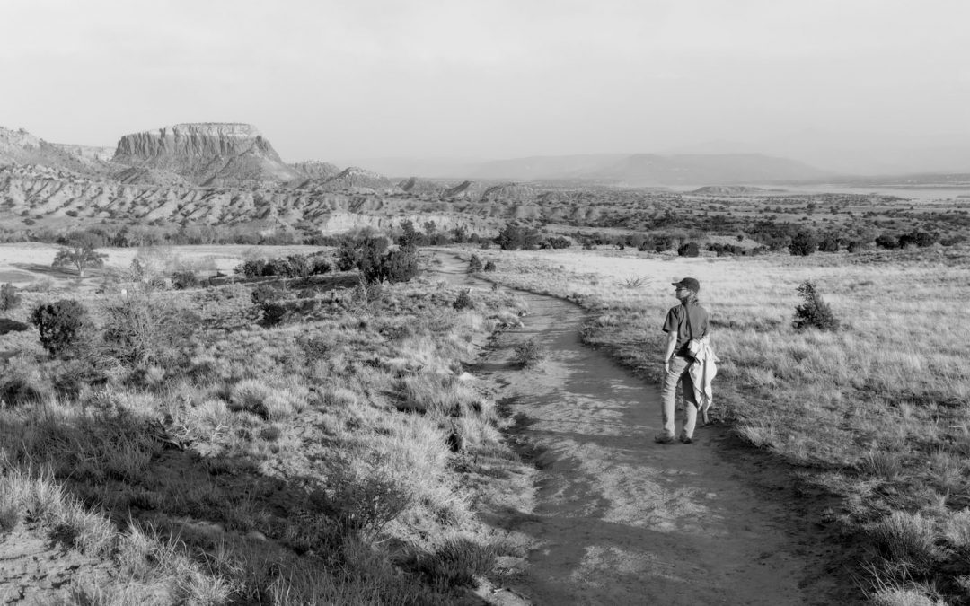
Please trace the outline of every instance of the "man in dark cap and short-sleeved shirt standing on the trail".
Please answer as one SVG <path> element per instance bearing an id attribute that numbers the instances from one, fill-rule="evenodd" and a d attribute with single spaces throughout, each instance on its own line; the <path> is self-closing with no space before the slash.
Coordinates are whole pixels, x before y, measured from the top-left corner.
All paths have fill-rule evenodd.
<path id="1" fill-rule="evenodd" d="M 694 429 L 697 423 L 697 398 L 694 382 L 691 380 L 690 367 L 694 359 L 690 352 L 692 339 L 707 336 L 709 330 L 709 316 L 707 310 L 700 306 L 697 294 L 700 292 L 700 282 L 693 277 L 685 277 L 679 282 L 672 282 L 676 288 L 674 296 L 680 301 L 679 305 L 667 311 L 663 321 L 663 332 L 667 334 L 666 348 L 663 354 L 663 386 L 661 388 L 661 405 L 663 412 L 663 431 L 655 440 L 661 444 L 674 442 L 674 397 L 677 393 L 677 383 L 681 384 L 684 392 L 684 426 L 680 432 L 680 441 L 690 444 L 694 441 Z"/>

